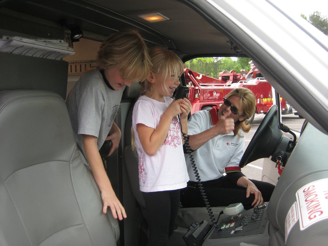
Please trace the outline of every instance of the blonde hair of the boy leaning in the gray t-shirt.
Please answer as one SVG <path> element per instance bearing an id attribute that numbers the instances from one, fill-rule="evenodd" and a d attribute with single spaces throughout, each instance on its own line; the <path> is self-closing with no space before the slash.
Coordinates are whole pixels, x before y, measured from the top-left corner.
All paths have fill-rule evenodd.
<path id="1" fill-rule="evenodd" d="M 152 63 L 148 48 L 136 30 L 123 30 L 111 34 L 97 55 L 100 69 L 118 66 L 123 79 L 139 82 L 149 76 Z"/>

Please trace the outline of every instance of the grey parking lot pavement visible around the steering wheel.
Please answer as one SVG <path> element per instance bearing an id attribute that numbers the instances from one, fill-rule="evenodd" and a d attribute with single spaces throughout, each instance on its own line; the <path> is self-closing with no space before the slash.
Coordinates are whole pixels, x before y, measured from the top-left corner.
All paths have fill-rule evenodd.
<path id="1" fill-rule="evenodd" d="M 255 134 L 258 126 L 262 122 L 262 119 L 264 118 L 264 116 L 265 115 L 262 113 L 255 115 L 251 130 L 249 133 L 246 133 L 244 151 L 246 150 L 249 142 L 251 141 L 253 135 Z M 282 115 L 281 118 L 282 118 L 282 123 L 284 125 L 288 126 L 290 129 L 300 132 L 303 122 L 304 122 L 304 119 L 299 118 L 295 114 L 285 114 L 285 115 Z M 275 165 L 275 163 L 272 162 L 272 165 Z M 242 168 L 241 171 L 249 179 L 262 180 L 262 167 L 263 167 L 263 158 L 247 164 L 244 168 Z"/>

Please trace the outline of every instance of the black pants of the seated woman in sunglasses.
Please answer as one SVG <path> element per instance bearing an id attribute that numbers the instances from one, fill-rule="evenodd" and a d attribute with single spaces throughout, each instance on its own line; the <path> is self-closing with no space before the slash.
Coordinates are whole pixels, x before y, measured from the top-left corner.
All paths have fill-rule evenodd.
<path id="1" fill-rule="evenodd" d="M 273 184 L 250 179 L 256 188 L 262 193 L 263 200 L 268 202 L 275 188 Z M 212 207 L 228 206 L 241 202 L 244 209 L 252 208 L 255 199 L 254 194 L 246 198 L 246 188 L 232 183 L 227 176 L 216 180 L 202 182 L 207 199 Z M 205 207 L 204 200 L 199 191 L 197 182 L 188 182 L 188 186 L 181 190 L 181 204 L 185 208 Z"/>

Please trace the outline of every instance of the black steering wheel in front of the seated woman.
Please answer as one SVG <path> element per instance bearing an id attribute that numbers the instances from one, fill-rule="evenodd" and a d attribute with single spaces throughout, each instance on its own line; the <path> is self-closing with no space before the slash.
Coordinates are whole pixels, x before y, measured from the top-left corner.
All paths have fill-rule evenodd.
<path id="1" fill-rule="evenodd" d="M 282 132 L 278 126 L 278 106 L 274 104 L 264 116 L 252 140 L 248 144 L 239 162 L 239 167 L 243 168 L 252 161 L 267 158 L 274 154 L 282 139 Z"/>

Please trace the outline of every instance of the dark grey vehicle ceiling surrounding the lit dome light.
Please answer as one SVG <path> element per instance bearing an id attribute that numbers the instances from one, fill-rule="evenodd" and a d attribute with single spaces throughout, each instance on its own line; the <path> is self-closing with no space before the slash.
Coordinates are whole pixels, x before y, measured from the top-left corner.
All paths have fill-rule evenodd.
<path id="1" fill-rule="evenodd" d="M 74 17 L 83 20 L 83 31 L 103 36 L 108 36 L 112 32 L 124 28 L 137 28 L 149 45 L 166 46 L 188 58 L 206 54 L 209 56 L 237 56 L 227 37 L 183 1 L 0 1 L 0 7 L 27 13 L 55 23 L 59 23 L 64 18 Z M 141 14 L 154 12 L 164 15 L 170 20 L 148 23 L 138 17 Z"/>

